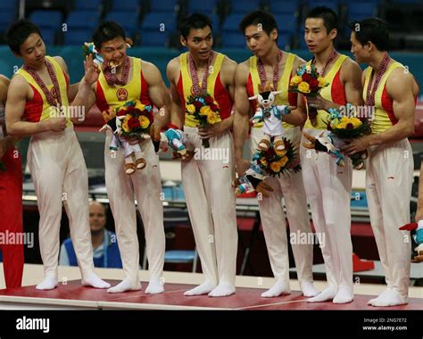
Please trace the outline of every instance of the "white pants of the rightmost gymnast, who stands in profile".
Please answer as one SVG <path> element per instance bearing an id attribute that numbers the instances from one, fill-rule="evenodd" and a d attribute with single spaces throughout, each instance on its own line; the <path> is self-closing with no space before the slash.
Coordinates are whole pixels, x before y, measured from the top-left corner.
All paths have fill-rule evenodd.
<path id="1" fill-rule="evenodd" d="M 386 275 L 386 284 L 403 298 L 410 283 L 410 222 L 414 161 L 408 139 L 369 149 L 366 192 L 370 222 Z"/>

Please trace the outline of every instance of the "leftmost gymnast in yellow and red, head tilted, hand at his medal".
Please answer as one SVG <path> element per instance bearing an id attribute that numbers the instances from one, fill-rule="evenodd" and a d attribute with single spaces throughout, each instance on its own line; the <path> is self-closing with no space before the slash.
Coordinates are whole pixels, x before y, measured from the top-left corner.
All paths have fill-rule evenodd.
<path id="1" fill-rule="evenodd" d="M 11 135 L 32 136 L 28 164 L 40 214 L 39 244 L 45 279 L 37 285 L 49 290 L 58 283 L 59 231 L 62 202 L 70 222 L 84 285 L 110 287 L 94 273 L 88 223 L 88 178 L 84 157 L 69 118 L 56 117 L 55 108 L 69 108 L 78 86 L 69 86 L 66 64 L 46 56 L 39 29 L 18 21 L 7 33 L 12 52 L 24 65 L 12 79 L 6 105 L 6 126 Z M 82 101 L 75 99 L 74 106 Z"/>

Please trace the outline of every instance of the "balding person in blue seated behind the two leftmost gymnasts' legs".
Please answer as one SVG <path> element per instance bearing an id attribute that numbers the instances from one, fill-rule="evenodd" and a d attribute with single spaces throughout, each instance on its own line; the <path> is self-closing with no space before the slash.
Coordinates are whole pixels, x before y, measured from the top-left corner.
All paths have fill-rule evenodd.
<path id="1" fill-rule="evenodd" d="M 122 268 L 116 235 L 105 229 L 106 210 L 97 202 L 89 203 L 89 227 L 93 242 L 94 266 L 96 268 Z M 77 256 L 71 238 L 67 238 L 61 247 L 59 265 L 78 266 Z"/>

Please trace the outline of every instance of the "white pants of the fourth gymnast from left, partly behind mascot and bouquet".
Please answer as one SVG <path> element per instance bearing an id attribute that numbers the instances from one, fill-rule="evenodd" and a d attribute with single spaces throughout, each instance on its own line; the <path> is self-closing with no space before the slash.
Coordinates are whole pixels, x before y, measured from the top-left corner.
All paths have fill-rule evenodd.
<path id="1" fill-rule="evenodd" d="M 300 145 L 300 128 L 286 128 L 286 138 L 290 139 L 298 152 Z M 257 145 L 262 137 L 261 128 L 252 128 L 251 153 L 255 153 Z M 290 233 L 295 234 L 292 249 L 294 252 L 295 266 L 298 273 L 299 283 L 312 282 L 313 245 L 301 244 L 296 235 L 311 234 L 309 213 L 307 211 L 307 199 L 303 186 L 302 173 L 290 173 L 281 175 L 280 178 L 267 178 L 273 192 L 269 198 L 262 197 L 259 200 L 261 225 L 268 248 L 270 266 L 273 275 L 277 279 L 283 279 L 289 286 L 289 256 L 286 239 L 286 217 L 289 221 Z M 286 216 L 282 197 L 285 198 Z M 297 241 L 298 240 L 298 241 Z"/>

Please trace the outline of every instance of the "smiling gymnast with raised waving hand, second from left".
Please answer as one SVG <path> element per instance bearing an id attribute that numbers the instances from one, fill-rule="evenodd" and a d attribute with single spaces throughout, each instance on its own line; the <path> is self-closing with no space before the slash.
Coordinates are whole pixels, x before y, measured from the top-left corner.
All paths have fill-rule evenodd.
<path id="1" fill-rule="evenodd" d="M 166 124 L 170 110 L 170 95 L 160 71 L 153 63 L 127 55 L 125 31 L 115 22 L 105 21 L 93 36 L 96 50 L 104 58 L 95 65 L 93 56 L 87 56 L 86 76 L 81 80 L 79 93 L 87 98 L 87 107 L 96 103 L 105 120 L 113 119 L 116 109 L 138 100 L 144 105 L 156 106 L 161 111 L 150 120 L 152 135 L 159 139 L 160 129 Z M 164 111 L 163 111 L 164 110 Z M 112 132 L 106 132 L 104 148 L 105 183 L 116 225 L 116 234 L 125 278 L 107 292 L 122 293 L 141 289 L 138 278 L 139 248 L 134 198 L 137 199 L 145 227 L 146 253 L 150 270 L 150 282 L 146 294 L 163 292 L 162 271 L 164 265 L 165 237 L 163 227 L 162 183 L 159 158 L 151 140 L 141 143 L 146 167 L 127 175 L 124 170 L 124 152 L 120 148 L 115 156 L 108 152 Z M 138 143 L 139 139 L 129 140 Z"/>

